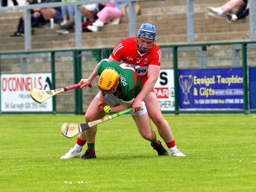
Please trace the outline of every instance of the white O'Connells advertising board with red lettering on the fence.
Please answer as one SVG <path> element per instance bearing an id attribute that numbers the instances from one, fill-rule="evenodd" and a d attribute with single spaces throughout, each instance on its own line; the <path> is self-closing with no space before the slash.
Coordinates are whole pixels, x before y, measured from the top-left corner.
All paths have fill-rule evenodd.
<path id="1" fill-rule="evenodd" d="M 30 97 L 30 88 L 51 90 L 51 73 L 1 74 L 2 112 L 51 112 L 52 98 L 39 104 Z"/>

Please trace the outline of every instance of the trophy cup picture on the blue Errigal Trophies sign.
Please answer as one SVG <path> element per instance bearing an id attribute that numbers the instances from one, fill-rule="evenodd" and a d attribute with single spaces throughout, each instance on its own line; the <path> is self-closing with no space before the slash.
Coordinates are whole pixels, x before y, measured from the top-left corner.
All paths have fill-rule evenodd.
<path id="1" fill-rule="evenodd" d="M 190 104 L 188 100 L 188 93 L 190 93 L 190 88 L 193 84 L 193 76 L 192 75 L 180 75 L 179 76 L 179 84 L 180 87 L 182 88 L 182 93 L 185 94 L 184 96 L 184 105 Z"/>

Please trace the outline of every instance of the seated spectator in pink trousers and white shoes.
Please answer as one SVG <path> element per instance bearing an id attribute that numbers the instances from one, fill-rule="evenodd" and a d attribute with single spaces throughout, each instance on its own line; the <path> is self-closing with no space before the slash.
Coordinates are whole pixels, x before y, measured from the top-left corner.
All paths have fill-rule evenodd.
<path id="1" fill-rule="evenodd" d="M 127 2 L 116 3 L 114 7 L 105 6 L 101 11 L 97 13 L 98 19 L 92 23 L 91 26 L 87 28 L 92 32 L 97 32 L 99 27 L 103 27 L 104 24 L 109 22 L 112 19 L 120 18 L 123 16 L 121 11 L 121 6 L 124 4 L 128 4 Z"/>

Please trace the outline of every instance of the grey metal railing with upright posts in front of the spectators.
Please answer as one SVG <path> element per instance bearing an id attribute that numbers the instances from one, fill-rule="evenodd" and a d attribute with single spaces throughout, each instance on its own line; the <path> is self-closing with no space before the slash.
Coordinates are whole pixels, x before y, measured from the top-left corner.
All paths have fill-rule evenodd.
<path id="1" fill-rule="evenodd" d="M 136 14 L 135 14 L 135 3 L 136 2 L 146 2 L 153 0 L 111 0 L 111 2 L 129 2 L 129 35 L 130 37 L 135 36 L 136 32 Z M 60 7 L 72 5 L 75 6 L 75 39 L 76 48 L 82 46 L 82 12 L 79 6 L 82 4 L 92 4 L 92 3 L 105 3 L 109 0 L 86 0 L 77 2 L 57 2 L 57 3 L 42 3 L 33 4 L 27 6 L 14 6 L 14 7 L 0 7 L 0 12 L 6 12 L 10 10 L 24 10 L 24 28 L 25 28 L 25 51 L 32 48 L 31 45 L 31 21 L 30 21 L 30 10 L 33 8 L 48 8 L 48 7 Z M 250 40 L 256 40 L 256 0 L 250 0 Z M 187 42 L 192 43 L 195 40 L 194 35 L 194 0 L 186 0 L 187 5 Z"/>

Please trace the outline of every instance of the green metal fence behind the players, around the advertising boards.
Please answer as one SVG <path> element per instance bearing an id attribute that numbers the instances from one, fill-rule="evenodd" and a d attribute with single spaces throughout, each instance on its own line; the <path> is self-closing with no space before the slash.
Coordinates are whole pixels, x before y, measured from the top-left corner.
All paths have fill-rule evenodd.
<path id="1" fill-rule="evenodd" d="M 160 46 L 162 69 L 174 70 L 175 110 L 168 113 L 254 113 L 248 106 L 248 66 L 256 66 L 256 42 L 223 42 Z M 102 58 L 108 58 L 112 48 L 44 50 L 0 53 L 0 74 L 51 73 L 51 89 L 76 84 L 90 76 Z M 244 78 L 243 110 L 180 110 L 178 101 L 178 70 L 197 68 L 242 67 Z M 52 98 L 48 113 L 84 113 L 98 89 L 74 89 Z M 1 84 L 2 86 L 2 84 Z M 1 97 L 0 99 L 4 100 Z M 2 102 L 1 102 L 2 103 Z M 13 113 L 1 111 L 1 113 Z M 27 112 L 19 112 L 27 113 Z M 47 113 L 47 112 L 46 112 Z"/>

